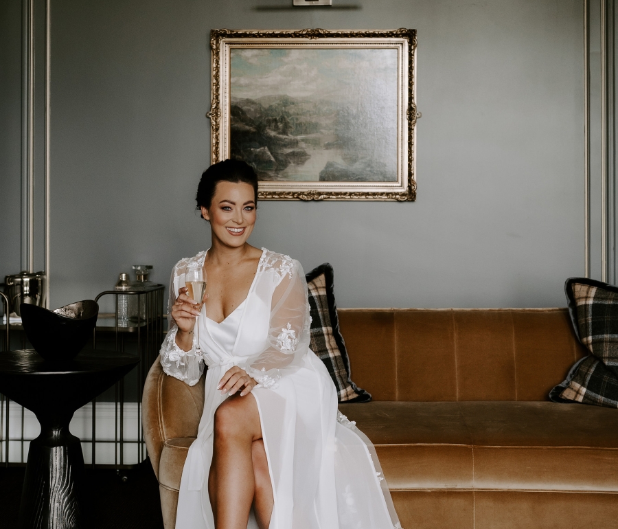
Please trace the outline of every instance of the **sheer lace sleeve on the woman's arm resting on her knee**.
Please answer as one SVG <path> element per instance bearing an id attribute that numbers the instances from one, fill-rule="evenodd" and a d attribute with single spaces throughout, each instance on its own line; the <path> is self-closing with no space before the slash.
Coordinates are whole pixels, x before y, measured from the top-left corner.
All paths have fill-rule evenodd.
<path id="1" fill-rule="evenodd" d="M 310 344 L 309 302 L 305 274 L 298 261 L 287 256 L 277 263 L 280 279 L 273 293 L 266 349 L 251 357 L 245 370 L 261 385 L 277 387 L 277 381 L 296 371 Z"/>

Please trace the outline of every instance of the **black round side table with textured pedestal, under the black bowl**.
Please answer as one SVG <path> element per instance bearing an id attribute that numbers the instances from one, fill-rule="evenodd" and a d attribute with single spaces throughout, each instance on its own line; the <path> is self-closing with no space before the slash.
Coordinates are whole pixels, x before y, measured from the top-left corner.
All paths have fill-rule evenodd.
<path id="1" fill-rule="evenodd" d="M 84 456 L 69 432 L 77 409 L 139 363 L 114 351 L 85 350 L 71 361 L 45 361 L 32 351 L 0 353 L 0 393 L 30 409 L 41 434 L 30 443 L 19 508 L 23 529 L 84 527 Z"/>

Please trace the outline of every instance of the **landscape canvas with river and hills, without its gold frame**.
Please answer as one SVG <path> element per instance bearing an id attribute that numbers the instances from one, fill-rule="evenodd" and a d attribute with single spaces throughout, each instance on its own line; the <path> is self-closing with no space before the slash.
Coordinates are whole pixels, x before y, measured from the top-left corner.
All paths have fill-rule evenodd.
<path id="1" fill-rule="evenodd" d="M 230 154 L 260 180 L 397 180 L 396 49 L 231 49 Z"/>

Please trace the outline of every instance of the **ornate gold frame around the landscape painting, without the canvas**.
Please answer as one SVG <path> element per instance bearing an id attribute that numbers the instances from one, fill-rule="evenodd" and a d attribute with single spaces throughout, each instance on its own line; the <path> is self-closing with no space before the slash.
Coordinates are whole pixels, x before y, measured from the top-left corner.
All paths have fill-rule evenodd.
<path id="1" fill-rule="evenodd" d="M 229 52 L 231 47 L 392 47 L 398 49 L 398 181 L 397 182 L 307 182 L 260 181 L 263 200 L 371 200 L 414 201 L 416 30 L 212 30 L 211 160 L 229 157 Z"/>

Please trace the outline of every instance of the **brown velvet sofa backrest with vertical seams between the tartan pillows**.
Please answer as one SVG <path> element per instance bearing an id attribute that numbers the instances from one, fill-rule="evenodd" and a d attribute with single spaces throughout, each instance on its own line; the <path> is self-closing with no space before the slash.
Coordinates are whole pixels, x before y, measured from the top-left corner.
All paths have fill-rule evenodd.
<path id="1" fill-rule="evenodd" d="M 567 308 L 342 308 L 339 323 L 374 401 L 545 401 L 587 354 Z"/>

